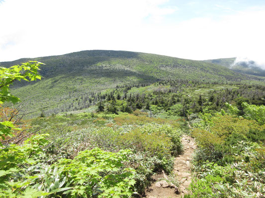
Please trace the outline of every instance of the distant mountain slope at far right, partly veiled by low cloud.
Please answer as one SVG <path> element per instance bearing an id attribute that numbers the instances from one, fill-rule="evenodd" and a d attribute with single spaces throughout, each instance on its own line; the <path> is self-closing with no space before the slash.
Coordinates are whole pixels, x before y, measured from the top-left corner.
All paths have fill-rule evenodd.
<path id="1" fill-rule="evenodd" d="M 252 64 L 248 64 L 246 62 L 238 62 L 237 64 L 233 65 L 235 60 L 236 58 L 234 57 L 234 58 L 219 58 L 219 59 L 204 60 L 204 61 L 228 67 L 231 70 L 238 73 L 265 77 L 265 70 L 261 69 L 258 66 L 255 66 L 254 61 L 252 61 Z"/>

